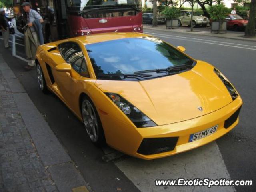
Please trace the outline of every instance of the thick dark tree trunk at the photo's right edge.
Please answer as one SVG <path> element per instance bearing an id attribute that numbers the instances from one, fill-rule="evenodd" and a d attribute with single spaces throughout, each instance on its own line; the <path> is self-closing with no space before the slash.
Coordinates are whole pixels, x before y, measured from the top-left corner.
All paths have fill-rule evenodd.
<path id="1" fill-rule="evenodd" d="M 250 4 L 249 21 L 245 28 L 245 36 L 255 36 L 255 13 L 256 13 L 256 0 L 252 0 Z"/>

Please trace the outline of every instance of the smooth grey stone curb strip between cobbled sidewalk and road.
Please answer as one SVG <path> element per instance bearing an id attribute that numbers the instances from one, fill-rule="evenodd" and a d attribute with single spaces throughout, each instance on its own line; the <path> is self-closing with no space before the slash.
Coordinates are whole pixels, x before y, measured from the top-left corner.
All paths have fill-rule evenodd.
<path id="1" fill-rule="evenodd" d="M 50 172 L 58 190 L 71 192 L 74 188 L 83 186 L 87 188 L 87 191 L 92 191 L 1 54 L 0 71 L 10 86 L 13 99 L 33 140 L 40 160 Z M 86 190 L 81 192 L 86 192 Z"/>

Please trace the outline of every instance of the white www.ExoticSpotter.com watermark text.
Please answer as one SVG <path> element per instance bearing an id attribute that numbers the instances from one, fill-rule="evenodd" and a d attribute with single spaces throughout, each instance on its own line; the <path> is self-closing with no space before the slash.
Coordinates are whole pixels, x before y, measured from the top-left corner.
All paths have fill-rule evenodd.
<path id="1" fill-rule="evenodd" d="M 252 186 L 252 180 L 230 180 L 230 179 L 209 179 L 209 178 L 194 178 L 194 179 L 156 179 L 155 186 Z"/>

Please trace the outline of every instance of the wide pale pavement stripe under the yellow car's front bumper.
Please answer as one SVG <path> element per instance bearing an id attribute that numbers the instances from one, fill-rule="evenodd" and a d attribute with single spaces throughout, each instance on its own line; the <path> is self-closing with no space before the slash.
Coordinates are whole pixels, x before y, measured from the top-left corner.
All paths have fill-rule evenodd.
<path id="1" fill-rule="evenodd" d="M 156 160 L 128 158 L 116 162 L 116 166 L 134 183 L 141 192 L 234 192 L 234 187 L 161 187 L 155 186 L 156 179 L 211 178 L 230 179 L 226 165 L 216 142 L 200 148 Z"/>

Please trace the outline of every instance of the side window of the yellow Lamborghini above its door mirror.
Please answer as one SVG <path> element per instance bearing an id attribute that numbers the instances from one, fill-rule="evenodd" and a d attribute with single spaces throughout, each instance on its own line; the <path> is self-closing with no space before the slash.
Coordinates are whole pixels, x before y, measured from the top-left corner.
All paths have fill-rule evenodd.
<path id="1" fill-rule="evenodd" d="M 82 76 L 90 77 L 83 52 L 75 42 L 66 42 L 58 45 L 60 53 L 64 60 L 69 63 L 72 68 Z M 86 75 L 85 75 L 86 74 Z"/>

